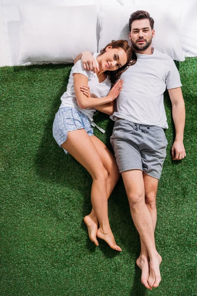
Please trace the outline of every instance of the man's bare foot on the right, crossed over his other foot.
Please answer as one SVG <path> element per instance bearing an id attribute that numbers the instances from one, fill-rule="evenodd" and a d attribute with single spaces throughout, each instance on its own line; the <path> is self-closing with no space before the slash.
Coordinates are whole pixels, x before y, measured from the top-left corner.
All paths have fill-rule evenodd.
<path id="1" fill-rule="evenodd" d="M 149 267 L 149 278 L 148 284 L 150 287 L 158 287 L 161 282 L 161 274 L 160 274 L 160 264 L 162 262 L 162 257 L 160 254 L 150 258 Z"/>

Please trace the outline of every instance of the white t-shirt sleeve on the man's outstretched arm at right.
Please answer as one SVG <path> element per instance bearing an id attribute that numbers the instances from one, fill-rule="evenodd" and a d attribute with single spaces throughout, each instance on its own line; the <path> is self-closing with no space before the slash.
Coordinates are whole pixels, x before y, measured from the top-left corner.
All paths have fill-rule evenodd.
<path id="1" fill-rule="evenodd" d="M 172 59 L 169 61 L 169 68 L 165 77 L 165 84 L 167 89 L 182 86 L 179 72 Z"/>

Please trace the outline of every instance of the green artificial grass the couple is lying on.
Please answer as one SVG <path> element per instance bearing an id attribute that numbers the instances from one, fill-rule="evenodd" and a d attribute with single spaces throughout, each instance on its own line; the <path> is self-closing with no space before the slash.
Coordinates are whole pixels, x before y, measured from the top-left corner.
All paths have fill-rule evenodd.
<path id="1" fill-rule="evenodd" d="M 70 65 L 0 68 L 0 296 L 197 296 L 196 117 L 197 59 L 178 65 L 186 105 L 187 156 L 172 161 L 171 103 L 165 93 L 169 129 L 159 183 L 156 246 L 162 282 L 146 290 L 135 260 L 137 231 L 120 180 L 109 200 L 109 220 L 122 253 L 88 238 L 83 217 L 91 210 L 91 177 L 52 137 L 52 124 L 66 91 Z M 113 122 L 95 135 L 110 148 Z"/>

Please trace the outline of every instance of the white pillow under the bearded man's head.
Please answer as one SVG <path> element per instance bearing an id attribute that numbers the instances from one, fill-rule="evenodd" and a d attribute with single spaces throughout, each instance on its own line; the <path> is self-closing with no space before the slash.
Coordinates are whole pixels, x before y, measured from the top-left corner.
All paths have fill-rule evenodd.
<path id="1" fill-rule="evenodd" d="M 110 14 L 108 11 L 110 10 Z M 184 61 L 185 53 L 181 48 L 179 26 L 182 9 L 174 5 L 132 5 L 121 7 L 101 6 L 99 9 L 100 39 L 99 50 L 112 39 L 129 40 L 129 18 L 136 10 L 146 10 L 155 21 L 155 37 L 153 47 L 172 57 L 176 61 Z"/>

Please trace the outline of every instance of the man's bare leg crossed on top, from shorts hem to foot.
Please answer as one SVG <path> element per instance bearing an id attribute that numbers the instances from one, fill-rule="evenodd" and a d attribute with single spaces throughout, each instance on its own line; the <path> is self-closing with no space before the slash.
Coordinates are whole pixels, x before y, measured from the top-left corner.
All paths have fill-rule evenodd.
<path id="1" fill-rule="evenodd" d="M 159 266 L 162 258 L 155 247 L 153 220 L 145 204 L 143 173 L 141 170 L 129 170 L 122 172 L 122 177 L 130 203 L 133 222 L 141 240 L 144 242 L 150 259 L 149 278 L 145 286 L 147 288 L 158 287 L 161 281 Z"/>

